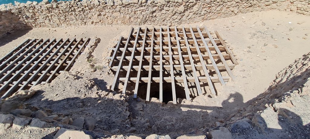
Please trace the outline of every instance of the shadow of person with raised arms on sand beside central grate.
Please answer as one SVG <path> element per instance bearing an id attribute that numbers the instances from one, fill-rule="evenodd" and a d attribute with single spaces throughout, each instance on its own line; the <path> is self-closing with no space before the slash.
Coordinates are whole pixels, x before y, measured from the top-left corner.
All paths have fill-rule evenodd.
<path id="1" fill-rule="evenodd" d="M 235 92 L 234 94 L 230 94 L 230 96 L 222 102 L 222 106 L 224 109 L 233 109 L 246 106 L 246 103 L 243 103 L 242 95 L 239 92 Z"/>

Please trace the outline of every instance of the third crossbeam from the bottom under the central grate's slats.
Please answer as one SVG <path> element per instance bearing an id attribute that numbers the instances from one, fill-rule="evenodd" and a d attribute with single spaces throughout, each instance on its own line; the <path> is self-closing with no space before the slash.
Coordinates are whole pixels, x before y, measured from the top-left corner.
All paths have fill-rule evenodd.
<path id="1" fill-rule="evenodd" d="M 198 55 L 192 55 L 192 57 L 193 57 L 194 59 L 199 58 Z M 205 59 L 209 59 L 209 58 L 210 58 L 208 54 L 202 55 L 202 57 L 205 58 Z M 212 54 L 212 57 L 213 57 L 214 59 L 220 59 L 219 54 Z M 230 59 L 230 57 L 229 57 L 228 54 L 224 54 L 223 57 L 224 57 L 225 59 Z M 106 57 L 106 58 L 110 58 L 110 57 Z M 116 58 L 117 58 L 117 59 L 120 59 L 121 57 L 116 57 Z M 125 58 L 125 59 L 124 59 L 125 61 L 131 59 L 130 56 L 127 56 L 127 57 L 124 57 L 124 58 Z M 154 56 L 153 58 L 156 59 L 156 60 L 160 60 L 160 56 Z M 168 55 L 164 55 L 163 58 L 164 58 L 165 60 L 170 60 L 170 57 L 169 57 Z M 173 60 L 179 60 L 179 56 L 177 56 L 177 55 L 173 55 L 172 58 L 173 58 Z M 184 58 L 184 60 L 189 60 L 189 56 L 188 56 L 188 55 L 183 55 L 183 58 Z M 149 60 L 149 59 L 150 59 L 150 56 L 144 56 L 144 59 Z M 135 56 L 135 57 L 134 57 L 134 60 L 140 60 L 140 56 Z"/>

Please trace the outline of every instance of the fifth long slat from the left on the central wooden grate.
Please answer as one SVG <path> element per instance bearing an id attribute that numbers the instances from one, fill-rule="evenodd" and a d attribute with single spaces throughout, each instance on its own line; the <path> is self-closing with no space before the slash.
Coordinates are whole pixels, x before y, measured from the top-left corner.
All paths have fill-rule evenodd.
<path id="1" fill-rule="evenodd" d="M 150 52 L 150 62 L 149 62 L 149 70 L 148 70 L 148 86 L 146 90 L 146 101 L 150 101 L 150 91 L 151 91 L 151 78 L 152 78 L 152 62 L 153 62 L 153 42 L 154 42 L 154 27 L 152 29 L 152 38 L 151 38 L 151 52 Z M 159 70 L 159 68 L 158 68 Z"/>

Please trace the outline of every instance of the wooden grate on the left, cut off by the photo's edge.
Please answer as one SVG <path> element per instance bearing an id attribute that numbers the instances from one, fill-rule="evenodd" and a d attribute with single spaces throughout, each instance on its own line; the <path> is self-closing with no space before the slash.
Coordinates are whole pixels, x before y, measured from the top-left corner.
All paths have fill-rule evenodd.
<path id="1" fill-rule="evenodd" d="M 89 38 L 25 40 L 0 60 L 1 99 L 40 83 L 49 83 L 68 71 L 88 42 Z"/>

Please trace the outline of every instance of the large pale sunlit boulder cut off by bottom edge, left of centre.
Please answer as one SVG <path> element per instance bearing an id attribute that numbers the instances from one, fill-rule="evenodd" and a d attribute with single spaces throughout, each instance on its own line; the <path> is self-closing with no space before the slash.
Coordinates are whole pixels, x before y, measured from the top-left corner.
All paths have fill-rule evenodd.
<path id="1" fill-rule="evenodd" d="M 70 139 L 70 138 L 93 139 L 91 135 L 87 135 L 81 130 L 74 130 L 67 128 L 60 128 L 60 130 L 54 136 L 54 139 Z"/>

